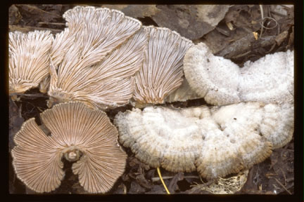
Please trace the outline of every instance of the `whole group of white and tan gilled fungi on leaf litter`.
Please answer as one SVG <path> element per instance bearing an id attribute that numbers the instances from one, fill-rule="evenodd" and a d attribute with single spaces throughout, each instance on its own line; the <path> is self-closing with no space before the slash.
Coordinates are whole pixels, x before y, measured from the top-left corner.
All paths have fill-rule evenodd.
<path id="1" fill-rule="evenodd" d="M 293 51 L 239 68 L 204 43 L 142 26 L 120 11 L 76 6 L 67 28 L 9 33 L 9 93 L 39 87 L 48 107 L 16 133 L 17 177 L 37 192 L 58 188 L 62 158 L 89 193 L 105 193 L 125 171 L 120 144 L 154 168 L 239 173 L 293 135 Z M 204 97 L 213 107 L 163 107 Z M 110 122 L 105 112 L 132 104 Z M 144 109 L 140 109 L 144 108 Z"/>

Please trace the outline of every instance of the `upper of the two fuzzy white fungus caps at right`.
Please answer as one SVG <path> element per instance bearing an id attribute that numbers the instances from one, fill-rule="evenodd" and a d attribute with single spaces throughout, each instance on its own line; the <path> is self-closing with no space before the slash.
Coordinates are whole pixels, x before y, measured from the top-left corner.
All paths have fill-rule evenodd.
<path id="1" fill-rule="evenodd" d="M 205 43 L 189 48 L 184 74 L 191 88 L 212 105 L 293 102 L 293 51 L 266 55 L 239 68 L 213 55 Z"/>

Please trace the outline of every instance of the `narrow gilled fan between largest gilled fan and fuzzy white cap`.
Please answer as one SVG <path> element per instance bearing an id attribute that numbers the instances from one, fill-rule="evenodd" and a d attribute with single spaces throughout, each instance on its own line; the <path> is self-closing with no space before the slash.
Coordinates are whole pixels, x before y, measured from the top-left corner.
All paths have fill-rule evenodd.
<path id="1" fill-rule="evenodd" d="M 144 29 L 148 33 L 148 48 L 144 52 L 143 67 L 134 76 L 134 100 L 139 105 L 159 104 L 182 85 L 182 61 L 193 43 L 164 27 Z"/>

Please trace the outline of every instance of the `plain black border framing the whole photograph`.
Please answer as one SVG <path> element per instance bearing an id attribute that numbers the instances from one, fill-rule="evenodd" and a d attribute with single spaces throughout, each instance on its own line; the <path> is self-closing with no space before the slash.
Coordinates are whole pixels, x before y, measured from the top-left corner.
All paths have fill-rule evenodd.
<path id="1" fill-rule="evenodd" d="M 5 166 L 1 173 L 4 184 L 1 196 L 4 201 L 304 201 L 303 194 L 303 1 L 8 1 L 1 6 L 1 121 L 4 140 L 1 141 L 2 163 Z M 83 195 L 83 194 L 9 194 L 8 191 L 8 8 L 11 4 L 294 4 L 295 5 L 295 192 L 293 195 Z"/>

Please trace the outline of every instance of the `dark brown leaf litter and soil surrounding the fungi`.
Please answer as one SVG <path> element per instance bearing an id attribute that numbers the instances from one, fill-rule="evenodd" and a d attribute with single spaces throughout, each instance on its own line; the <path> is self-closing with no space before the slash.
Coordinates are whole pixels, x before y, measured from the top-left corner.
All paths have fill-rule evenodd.
<path id="1" fill-rule="evenodd" d="M 62 15 L 75 5 L 13 5 L 9 9 L 9 29 L 20 32 L 30 32 L 35 29 L 49 29 L 53 34 L 61 32 L 65 27 Z M 102 5 L 91 5 L 102 6 Z M 213 50 L 215 55 L 231 59 L 242 66 L 247 60 L 258 60 L 268 53 L 293 49 L 293 7 L 263 5 L 262 20 L 260 6 L 234 5 L 227 8 L 215 7 L 213 15 L 208 19 L 201 16 L 201 7 L 188 6 L 157 6 L 157 5 L 107 5 L 125 12 L 126 15 L 137 18 L 143 25 L 164 26 L 174 29 L 182 36 L 192 39 L 194 43 L 203 41 Z M 226 14 L 216 15 L 221 11 Z M 216 15 L 216 16 L 215 16 Z M 167 18 L 167 16 L 171 16 Z M 217 18 L 218 24 L 211 25 L 209 21 Z M 205 19 L 205 21 L 202 21 Z M 166 25 L 166 26 L 165 26 Z M 189 25 L 187 29 L 184 26 Z M 190 26 L 191 25 L 191 26 Z M 205 27 L 200 28 L 200 26 Z M 263 28 L 262 28 L 263 26 Z M 256 39 L 254 33 L 262 37 Z M 9 149 L 14 147 L 13 137 L 20 129 L 23 121 L 35 118 L 40 124 L 39 113 L 46 107 L 47 95 L 39 93 L 38 89 L 25 93 L 32 96 L 20 96 L 19 101 L 9 100 Z M 35 96 L 38 95 L 39 97 Z M 192 107 L 206 105 L 205 100 L 189 100 L 174 102 L 175 107 Z M 107 112 L 111 121 L 118 112 L 132 109 L 131 105 L 118 107 Z M 158 180 L 155 168 L 150 168 L 134 158 L 130 149 L 125 148 L 128 154 L 125 173 L 115 183 L 109 194 L 165 194 L 165 189 Z M 293 194 L 293 140 L 281 149 L 274 149 L 270 158 L 259 163 L 248 174 L 248 180 L 237 194 Z M 9 173 L 9 191 L 11 194 L 34 194 L 27 189 L 23 182 L 16 177 L 13 166 Z M 86 193 L 80 186 L 77 175 L 71 170 L 71 163 L 64 161 L 65 178 L 61 186 L 51 194 L 82 194 Z M 198 173 L 171 173 L 160 169 L 165 184 L 171 193 L 208 194 L 207 191 L 194 190 L 191 185 L 202 184 Z M 204 182 L 206 180 L 203 179 Z M 191 191 L 191 189 L 193 189 Z"/>

